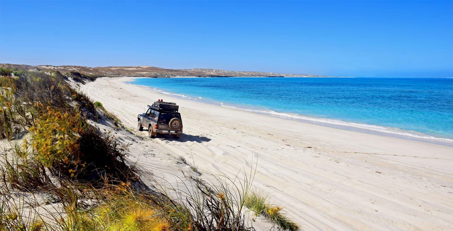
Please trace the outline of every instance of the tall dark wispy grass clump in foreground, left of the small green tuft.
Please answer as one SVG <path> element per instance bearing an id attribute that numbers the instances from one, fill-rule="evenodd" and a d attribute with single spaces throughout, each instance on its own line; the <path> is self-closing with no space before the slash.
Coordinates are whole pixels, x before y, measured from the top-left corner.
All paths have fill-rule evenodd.
<path id="1" fill-rule="evenodd" d="M 162 187 L 166 200 L 157 203 L 165 207 L 164 217 L 179 230 L 251 231 L 254 228 L 247 224 L 243 211 L 252 179 L 252 174 L 241 179 L 215 174 L 206 174 L 205 179 L 185 176 L 176 187 Z"/>

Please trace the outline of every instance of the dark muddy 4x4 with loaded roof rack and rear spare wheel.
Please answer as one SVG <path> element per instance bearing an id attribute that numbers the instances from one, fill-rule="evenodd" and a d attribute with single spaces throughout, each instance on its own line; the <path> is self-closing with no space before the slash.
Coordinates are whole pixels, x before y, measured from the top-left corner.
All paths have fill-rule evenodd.
<path id="1" fill-rule="evenodd" d="M 170 134 L 178 139 L 183 134 L 183 121 L 178 113 L 179 106 L 171 102 L 158 100 L 153 105 L 148 105 L 148 110 L 137 116 L 139 131 L 144 127 L 148 128 L 148 135 L 151 138 L 158 134 Z"/>

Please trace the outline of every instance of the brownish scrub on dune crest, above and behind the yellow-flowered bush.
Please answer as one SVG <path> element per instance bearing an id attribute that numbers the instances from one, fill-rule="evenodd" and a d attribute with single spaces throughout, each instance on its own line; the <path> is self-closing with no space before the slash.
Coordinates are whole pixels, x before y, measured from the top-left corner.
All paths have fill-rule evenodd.
<path id="1" fill-rule="evenodd" d="M 0 76 L 0 138 L 8 140 L 35 124 L 47 107 L 69 111 L 77 107 L 86 118 L 97 120 L 97 112 L 86 95 L 72 90 L 63 75 L 27 71 L 17 77 Z"/>

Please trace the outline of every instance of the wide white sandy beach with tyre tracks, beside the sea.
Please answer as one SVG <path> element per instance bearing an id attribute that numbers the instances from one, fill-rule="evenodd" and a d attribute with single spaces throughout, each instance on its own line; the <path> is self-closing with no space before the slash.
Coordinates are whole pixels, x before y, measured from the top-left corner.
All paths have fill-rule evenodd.
<path id="1" fill-rule="evenodd" d="M 305 230 L 453 230 L 451 147 L 174 99 L 129 79 L 101 78 L 81 91 L 135 131 L 147 104 L 178 103 L 184 135 L 145 138 L 150 148 L 193 155 L 200 169 L 229 176 L 258 160 L 255 187 Z"/>

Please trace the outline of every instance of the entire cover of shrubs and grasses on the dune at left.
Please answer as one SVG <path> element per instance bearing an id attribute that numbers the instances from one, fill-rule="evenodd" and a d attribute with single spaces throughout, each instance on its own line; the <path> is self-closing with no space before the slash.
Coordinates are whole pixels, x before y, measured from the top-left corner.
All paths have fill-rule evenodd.
<path id="1" fill-rule="evenodd" d="M 0 231 L 254 230 L 246 207 L 299 229 L 251 193 L 252 172 L 242 180 L 184 174 L 183 187 L 150 190 L 125 158 L 128 145 L 96 127 L 106 118 L 119 128 L 118 118 L 67 82 L 97 76 L 4 68 L 0 75 Z"/>

